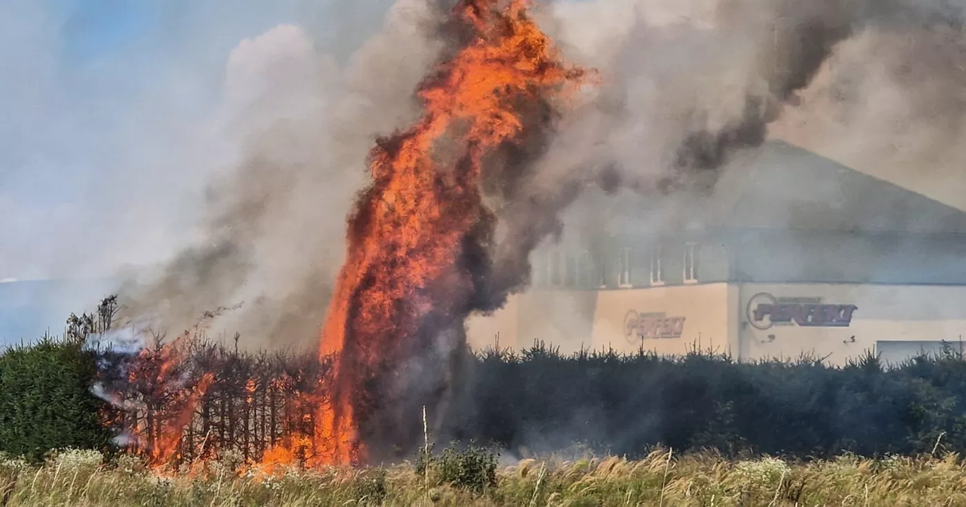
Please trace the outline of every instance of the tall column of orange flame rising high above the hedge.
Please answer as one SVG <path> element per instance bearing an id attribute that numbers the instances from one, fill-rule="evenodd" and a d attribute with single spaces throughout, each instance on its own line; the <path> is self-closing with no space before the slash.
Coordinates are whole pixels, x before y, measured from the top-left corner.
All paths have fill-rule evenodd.
<path id="1" fill-rule="evenodd" d="M 561 63 L 526 7 L 460 2 L 452 16 L 466 44 L 418 89 L 422 117 L 369 156 L 373 182 L 349 220 L 347 260 L 322 332 L 322 354 L 336 357 L 330 403 L 318 416 L 325 463 L 405 444 L 412 436 L 396 427 L 416 422 L 420 404 L 439 402 L 436 386 L 409 384 L 427 369 L 445 377 L 439 370 L 462 345 L 453 342 L 481 290 L 485 272 L 476 266 L 488 261 L 495 222 L 479 189 L 484 157 L 517 140 L 524 111 L 583 75 Z M 427 355 L 431 364 L 413 364 Z"/>

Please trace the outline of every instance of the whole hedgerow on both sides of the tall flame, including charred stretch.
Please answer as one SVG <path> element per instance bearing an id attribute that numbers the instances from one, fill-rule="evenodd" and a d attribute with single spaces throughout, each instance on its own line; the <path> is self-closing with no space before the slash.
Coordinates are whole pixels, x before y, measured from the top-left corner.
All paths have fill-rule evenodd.
<path id="1" fill-rule="evenodd" d="M 313 431 L 312 407 L 285 400 L 325 375 L 314 353 L 248 353 L 192 339 L 182 344 L 179 383 L 155 385 L 151 376 L 127 375 L 134 370 L 123 354 L 82 346 L 82 336 L 109 327 L 106 310 L 71 316 L 64 339 L 0 355 L 0 451 L 37 459 L 55 448 L 100 449 L 111 437 L 108 421 L 138 421 L 149 437 L 151 428 L 167 431 L 167 419 L 178 416 L 173 391 L 206 373 L 214 381 L 193 408 L 181 458 L 225 450 L 258 460 L 279 438 Z M 152 361 L 163 356 L 140 354 L 136 371 L 159 369 Z M 112 409 L 91 394 L 98 379 L 127 379 L 136 403 L 105 417 Z M 535 342 L 519 353 L 468 356 L 454 389 L 436 441 L 475 441 L 518 457 L 572 446 L 631 459 L 658 446 L 735 458 L 966 453 L 966 360 L 952 352 L 897 368 L 872 356 L 839 368 L 705 352 L 564 355 Z"/>

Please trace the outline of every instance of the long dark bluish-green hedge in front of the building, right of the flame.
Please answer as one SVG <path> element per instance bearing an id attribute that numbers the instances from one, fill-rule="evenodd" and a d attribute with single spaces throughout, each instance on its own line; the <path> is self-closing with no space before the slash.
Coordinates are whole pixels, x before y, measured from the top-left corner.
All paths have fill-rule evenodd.
<path id="1" fill-rule="evenodd" d="M 966 452 L 966 360 L 886 369 L 692 353 L 560 355 L 537 344 L 471 363 L 449 436 L 550 452 L 575 441 L 640 457 L 660 444 L 793 458 Z"/>

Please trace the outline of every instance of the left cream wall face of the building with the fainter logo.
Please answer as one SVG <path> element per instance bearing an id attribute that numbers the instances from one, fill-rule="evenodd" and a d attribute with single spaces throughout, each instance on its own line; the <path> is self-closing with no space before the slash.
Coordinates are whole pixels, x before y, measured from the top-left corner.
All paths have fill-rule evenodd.
<path id="1" fill-rule="evenodd" d="M 515 350 L 543 340 L 572 353 L 583 349 L 684 354 L 729 351 L 729 319 L 736 294 L 727 284 L 704 284 L 604 291 L 531 291 L 512 296 L 489 317 L 469 319 L 467 333 L 476 350 L 495 343 Z M 735 297 L 736 299 L 736 297 Z M 736 314 L 735 314 L 736 315 Z M 732 333 L 733 334 L 733 333 Z"/>

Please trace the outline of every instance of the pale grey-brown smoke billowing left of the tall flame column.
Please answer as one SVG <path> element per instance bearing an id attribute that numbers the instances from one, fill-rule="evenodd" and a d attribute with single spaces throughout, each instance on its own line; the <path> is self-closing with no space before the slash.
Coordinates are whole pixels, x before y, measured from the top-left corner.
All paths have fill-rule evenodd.
<path id="1" fill-rule="evenodd" d="M 126 315 L 177 328 L 241 303 L 211 325 L 251 337 L 246 346 L 315 345 L 365 154 L 412 119 L 412 90 L 439 51 L 425 35 L 432 16 L 397 3 L 342 65 L 293 25 L 241 42 L 225 87 L 243 160 L 210 184 L 200 239 L 123 291 Z"/>

